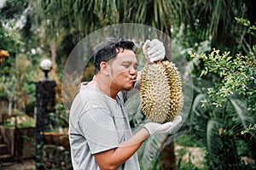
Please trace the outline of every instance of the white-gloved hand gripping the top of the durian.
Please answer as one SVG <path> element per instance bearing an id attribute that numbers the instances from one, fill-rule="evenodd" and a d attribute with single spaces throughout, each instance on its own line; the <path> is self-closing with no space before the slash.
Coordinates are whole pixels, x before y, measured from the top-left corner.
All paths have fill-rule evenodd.
<path id="1" fill-rule="evenodd" d="M 143 44 L 143 53 L 145 54 L 146 58 L 153 63 L 165 58 L 166 48 L 163 42 L 160 42 L 158 39 L 153 39 L 152 41 L 147 40 Z"/>

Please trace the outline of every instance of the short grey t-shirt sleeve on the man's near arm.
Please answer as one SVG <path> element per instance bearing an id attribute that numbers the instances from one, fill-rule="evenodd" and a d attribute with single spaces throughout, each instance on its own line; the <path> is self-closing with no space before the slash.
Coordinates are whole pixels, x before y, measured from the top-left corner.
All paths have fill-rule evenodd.
<path id="1" fill-rule="evenodd" d="M 108 109 L 92 108 L 79 119 L 79 127 L 90 147 L 91 154 L 118 147 L 118 133 Z"/>

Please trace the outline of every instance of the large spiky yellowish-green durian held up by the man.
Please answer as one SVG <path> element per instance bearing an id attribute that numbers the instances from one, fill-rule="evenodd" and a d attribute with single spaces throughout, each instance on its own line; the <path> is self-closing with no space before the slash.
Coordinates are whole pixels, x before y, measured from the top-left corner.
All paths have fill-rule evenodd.
<path id="1" fill-rule="evenodd" d="M 143 113 L 150 122 L 172 122 L 182 110 L 182 82 L 172 62 L 145 66 L 140 91 Z"/>

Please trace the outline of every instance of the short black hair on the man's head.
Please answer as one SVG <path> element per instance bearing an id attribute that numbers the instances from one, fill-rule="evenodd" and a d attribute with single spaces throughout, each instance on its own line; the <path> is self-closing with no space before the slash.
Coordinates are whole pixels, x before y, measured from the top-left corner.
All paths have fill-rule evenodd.
<path id="1" fill-rule="evenodd" d="M 119 50 L 122 49 L 131 49 L 135 51 L 135 44 L 130 40 L 125 38 L 107 38 L 101 42 L 96 48 L 96 52 L 93 55 L 94 57 L 94 73 L 96 74 L 100 71 L 100 64 L 102 61 L 108 62 L 110 59 L 113 59 L 119 54 Z"/>

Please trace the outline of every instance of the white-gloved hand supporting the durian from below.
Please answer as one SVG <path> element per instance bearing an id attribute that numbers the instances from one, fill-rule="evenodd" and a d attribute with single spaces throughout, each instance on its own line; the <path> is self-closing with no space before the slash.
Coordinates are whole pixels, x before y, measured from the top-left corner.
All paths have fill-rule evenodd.
<path id="1" fill-rule="evenodd" d="M 144 125 L 144 128 L 148 130 L 150 136 L 157 133 L 172 133 L 172 129 L 181 121 L 182 116 L 176 116 L 172 122 L 166 122 L 164 124 L 148 122 Z"/>

